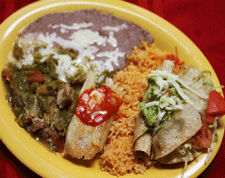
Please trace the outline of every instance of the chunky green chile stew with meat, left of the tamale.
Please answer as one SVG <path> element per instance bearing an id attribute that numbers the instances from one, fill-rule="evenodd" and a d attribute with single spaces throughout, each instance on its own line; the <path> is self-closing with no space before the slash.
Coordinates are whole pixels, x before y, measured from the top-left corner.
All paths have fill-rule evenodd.
<path id="1" fill-rule="evenodd" d="M 43 56 L 38 53 L 37 46 L 32 54 L 34 62 L 30 65 L 22 65 L 21 68 L 16 63 L 9 62 L 6 69 L 2 71 L 2 79 L 7 89 L 6 99 L 16 116 L 16 122 L 27 130 L 33 137 L 42 140 L 50 150 L 59 151 L 57 140 L 65 140 L 67 127 L 74 114 L 82 82 L 86 73 L 79 67 L 76 76 L 71 76 L 68 80 L 71 96 L 63 98 L 69 102 L 63 108 L 57 103 L 60 100 L 59 91 L 65 90 L 66 83 L 58 80 L 56 73 L 57 60 L 50 54 L 45 61 L 41 61 Z M 75 59 L 77 52 L 73 50 L 60 49 L 60 53 L 68 54 Z M 22 49 L 15 43 L 14 57 L 22 58 Z M 11 81 L 7 81 L 6 70 Z M 33 71 L 39 70 L 44 75 L 42 82 L 29 82 L 29 77 Z"/>

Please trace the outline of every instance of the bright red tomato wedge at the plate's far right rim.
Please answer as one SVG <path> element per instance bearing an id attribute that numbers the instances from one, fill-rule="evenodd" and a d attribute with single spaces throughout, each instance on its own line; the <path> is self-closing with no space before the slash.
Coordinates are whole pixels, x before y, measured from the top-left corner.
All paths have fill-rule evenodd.
<path id="1" fill-rule="evenodd" d="M 209 102 L 206 110 L 206 115 L 224 115 L 225 100 L 219 92 L 213 90 L 209 94 Z"/>

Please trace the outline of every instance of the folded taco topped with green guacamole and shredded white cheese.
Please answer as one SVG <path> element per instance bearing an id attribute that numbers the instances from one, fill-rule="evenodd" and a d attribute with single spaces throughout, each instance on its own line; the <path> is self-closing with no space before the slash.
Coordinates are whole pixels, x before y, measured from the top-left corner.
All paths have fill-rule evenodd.
<path id="1" fill-rule="evenodd" d="M 149 89 L 140 104 L 141 123 L 145 124 L 145 131 L 152 137 L 150 157 L 163 164 L 191 161 L 199 155 L 190 145 L 203 127 L 212 88 L 212 84 L 205 82 L 205 76 L 193 66 L 183 67 L 178 75 L 171 71 L 162 64 L 149 74 Z M 138 120 L 137 124 L 140 123 Z M 134 151 L 138 139 L 144 135 L 134 137 Z M 142 146 L 143 151 L 145 147 Z M 190 151 L 188 158 L 182 154 L 187 150 Z"/>

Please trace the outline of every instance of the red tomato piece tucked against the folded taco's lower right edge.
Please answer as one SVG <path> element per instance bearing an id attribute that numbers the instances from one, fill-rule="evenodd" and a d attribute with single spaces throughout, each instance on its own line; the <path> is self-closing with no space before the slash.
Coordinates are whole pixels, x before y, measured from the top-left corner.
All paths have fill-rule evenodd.
<path id="1" fill-rule="evenodd" d="M 196 145 L 200 148 L 210 148 L 211 147 L 211 132 L 208 128 L 206 122 L 202 119 L 202 127 L 194 136 L 192 142 L 193 145 Z"/>

